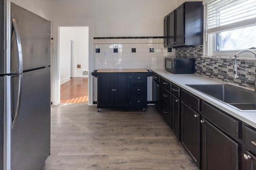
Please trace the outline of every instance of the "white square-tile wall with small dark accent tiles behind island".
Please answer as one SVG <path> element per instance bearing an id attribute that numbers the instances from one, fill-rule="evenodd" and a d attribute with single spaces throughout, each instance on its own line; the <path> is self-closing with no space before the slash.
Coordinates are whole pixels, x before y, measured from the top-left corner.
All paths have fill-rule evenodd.
<path id="1" fill-rule="evenodd" d="M 164 58 L 175 56 L 175 49 L 168 52 L 164 39 L 94 39 L 94 70 L 106 68 L 164 68 Z M 99 48 L 100 53 L 95 49 Z M 118 53 L 114 53 L 118 48 Z M 132 53 L 136 48 L 136 53 Z M 154 53 L 149 52 L 154 48 Z M 105 56 L 104 51 L 109 51 Z M 97 79 L 93 79 L 93 101 L 97 101 Z M 152 77 L 148 77 L 148 101 L 152 101 Z"/>

